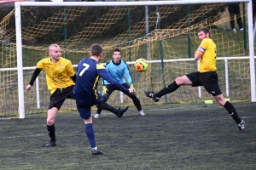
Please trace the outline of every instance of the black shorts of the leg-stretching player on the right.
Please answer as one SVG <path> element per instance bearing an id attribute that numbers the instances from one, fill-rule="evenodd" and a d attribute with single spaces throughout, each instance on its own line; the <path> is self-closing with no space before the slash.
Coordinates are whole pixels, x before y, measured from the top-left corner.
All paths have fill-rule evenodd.
<path id="1" fill-rule="evenodd" d="M 209 94 L 212 96 L 217 96 L 221 93 L 218 86 L 218 74 L 216 71 L 200 73 L 199 71 L 191 72 L 186 75 L 192 82 L 193 87 L 203 86 L 206 88 Z"/>

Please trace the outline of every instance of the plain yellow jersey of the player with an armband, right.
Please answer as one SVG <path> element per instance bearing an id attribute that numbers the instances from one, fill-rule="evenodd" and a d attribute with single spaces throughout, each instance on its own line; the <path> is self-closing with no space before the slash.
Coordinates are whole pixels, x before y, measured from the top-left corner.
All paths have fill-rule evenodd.
<path id="1" fill-rule="evenodd" d="M 216 44 L 212 39 L 205 38 L 201 41 L 197 53 L 201 54 L 199 72 L 217 71 Z"/>

